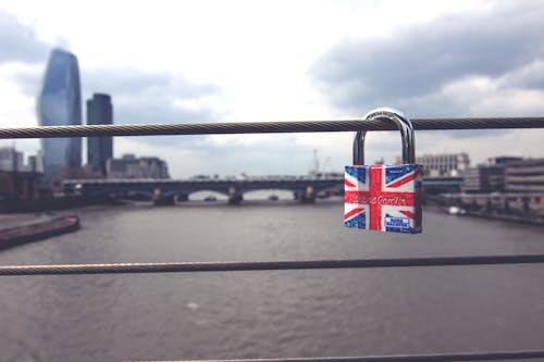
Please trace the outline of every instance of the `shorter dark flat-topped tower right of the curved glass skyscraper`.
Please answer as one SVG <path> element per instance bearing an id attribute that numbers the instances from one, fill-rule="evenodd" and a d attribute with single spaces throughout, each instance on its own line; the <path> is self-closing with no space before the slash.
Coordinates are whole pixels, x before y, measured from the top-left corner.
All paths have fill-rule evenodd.
<path id="1" fill-rule="evenodd" d="M 95 93 L 87 100 L 87 124 L 113 124 L 113 108 L 108 95 Z M 106 175 L 106 161 L 113 157 L 112 137 L 87 138 L 87 162 L 94 172 Z"/>

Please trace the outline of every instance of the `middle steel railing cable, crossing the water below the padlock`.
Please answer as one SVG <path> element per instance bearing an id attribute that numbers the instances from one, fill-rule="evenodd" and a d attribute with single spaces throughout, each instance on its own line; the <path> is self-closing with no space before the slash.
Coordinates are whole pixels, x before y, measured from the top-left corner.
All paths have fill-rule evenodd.
<path id="1" fill-rule="evenodd" d="M 486 255 L 399 259 L 351 260 L 296 260 L 296 261 L 242 261 L 242 262 L 170 262 L 170 263 L 115 263 L 115 264 L 61 264 L 0 266 L 0 276 L 59 275 L 59 274 L 129 274 L 129 273 L 193 273 L 287 271 L 317 269 L 457 266 L 490 264 L 544 263 L 544 254 Z"/>

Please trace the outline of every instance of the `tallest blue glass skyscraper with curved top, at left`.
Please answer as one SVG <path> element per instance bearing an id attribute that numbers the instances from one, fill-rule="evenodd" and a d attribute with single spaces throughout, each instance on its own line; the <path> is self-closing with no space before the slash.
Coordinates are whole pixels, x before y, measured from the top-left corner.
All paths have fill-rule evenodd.
<path id="1" fill-rule="evenodd" d="M 53 49 L 38 98 L 38 118 L 41 126 L 82 124 L 82 96 L 77 58 L 64 50 Z M 69 175 L 82 166 L 81 138 L 42 138 L 44 182 L 53 175 Z"/>

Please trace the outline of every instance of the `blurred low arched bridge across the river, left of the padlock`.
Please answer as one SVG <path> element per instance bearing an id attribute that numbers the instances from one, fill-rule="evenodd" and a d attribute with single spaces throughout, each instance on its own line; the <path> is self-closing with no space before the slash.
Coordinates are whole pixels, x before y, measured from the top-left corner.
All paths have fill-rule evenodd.
<path id="1" fill-rule="evenodd" d="M 344 188 L 344 176 L 262 176 L 190 179 L 66 179 L 63 191 L 84 197 L 126 198 L 140 196 L 157 204 L 187 201 L 190 194 L 215 191 L 228 198 L 228 203 L 239 203 L 244 194 L 255 190 L 276 189 L 294 192 L 300 202 L 314 202 L 316 195 Z"/>

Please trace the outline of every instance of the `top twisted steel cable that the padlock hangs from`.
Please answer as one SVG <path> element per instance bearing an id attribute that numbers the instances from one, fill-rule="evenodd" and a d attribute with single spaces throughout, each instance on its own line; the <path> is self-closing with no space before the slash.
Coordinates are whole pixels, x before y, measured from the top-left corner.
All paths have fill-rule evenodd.
<path id="1" fill-rule="evenodd" d="M 544 128 L 544 117 L 422 118 L 412 120 L 417 130 Z M 151 135 L 218 135 L 348 130 L 395 130 L 383 121 L 285 121 L 194 124 L 127 124 L 0 128 L 0 139 Z"/>

